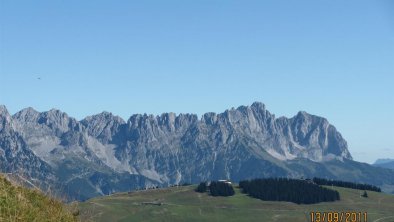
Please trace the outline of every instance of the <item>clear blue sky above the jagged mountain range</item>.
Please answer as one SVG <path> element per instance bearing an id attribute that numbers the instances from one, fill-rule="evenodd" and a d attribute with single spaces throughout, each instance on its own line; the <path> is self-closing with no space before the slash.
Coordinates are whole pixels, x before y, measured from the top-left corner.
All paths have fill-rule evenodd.
<path id="1" fill-rule="evenodd" d="M 394 158 L 394 1 L 0 0 L 0 83 L 11 113 L 77 119 L 261 101 Z"/>

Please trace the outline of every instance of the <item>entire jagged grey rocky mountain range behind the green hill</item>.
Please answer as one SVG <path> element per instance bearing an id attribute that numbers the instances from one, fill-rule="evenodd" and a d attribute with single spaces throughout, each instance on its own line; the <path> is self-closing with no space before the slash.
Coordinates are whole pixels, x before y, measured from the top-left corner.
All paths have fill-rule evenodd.
<path id="1" fill-rule="evenodd" d="M 137 114 L 128 121 L 108 112 L 77 121 L 59 110 L 27 108 L 12 117 L 2 110 L 0 120 L 16 135 L 4 139 L 15 143 L 18 137 L 31 159 L 45 164 L 78 199 L 138 187 L 269 176 L 368 179 L 393 188 L 392 171 L 367 166 L 360 173 L 350 167 L 359 163 L 326 119 L 306 112 L 275 118 L 262 103 L 200 119 L 165 113 Z M 3 144 L 0 152 L 13 149 Z"/>

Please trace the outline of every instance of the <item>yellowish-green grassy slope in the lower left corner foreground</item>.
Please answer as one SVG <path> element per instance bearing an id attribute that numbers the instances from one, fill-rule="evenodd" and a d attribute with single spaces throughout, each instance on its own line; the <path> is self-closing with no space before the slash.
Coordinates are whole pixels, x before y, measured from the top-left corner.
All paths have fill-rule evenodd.
<path id="1" fill-rule="evenodd" d="M 16 186 L 0 175 L 0 221 L 77 221 L 60 201 Z"/>

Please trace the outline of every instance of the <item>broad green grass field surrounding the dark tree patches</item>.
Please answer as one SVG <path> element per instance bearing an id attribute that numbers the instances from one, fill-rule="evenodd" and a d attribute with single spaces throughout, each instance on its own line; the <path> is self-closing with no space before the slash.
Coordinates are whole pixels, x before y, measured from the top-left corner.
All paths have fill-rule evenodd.
<path id="1" fill-rule="evenodd" d="M 310 221 L 310 212 L 367 212 L 368 222 L 394 221 L 394 195 L 334 187 L 341 201 L 312 205 L 261 201 L 235 189 L 231 197 L 194 192 L 195 186 L 118 193 L 79 205 L 91 221 Z"/>

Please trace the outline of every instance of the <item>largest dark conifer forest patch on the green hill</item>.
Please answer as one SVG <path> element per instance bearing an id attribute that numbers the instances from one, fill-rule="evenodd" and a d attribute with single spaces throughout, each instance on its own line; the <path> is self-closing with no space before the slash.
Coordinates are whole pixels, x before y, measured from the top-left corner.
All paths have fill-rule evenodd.
<path id="1" fill-rule="evenodd" d="M 253 179 L 239 182 L 242 192 L 268 201 L 313 204 L 339 200 L 339 193 L 312 182 L 287 178 Z"/>

